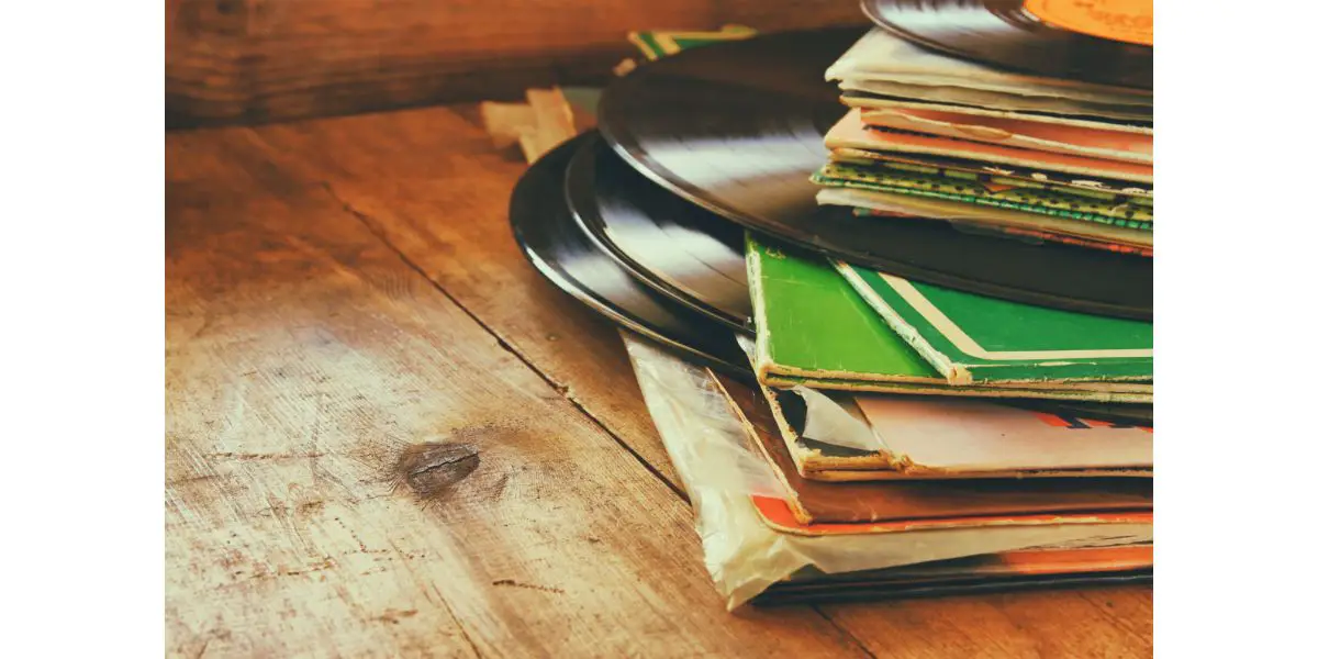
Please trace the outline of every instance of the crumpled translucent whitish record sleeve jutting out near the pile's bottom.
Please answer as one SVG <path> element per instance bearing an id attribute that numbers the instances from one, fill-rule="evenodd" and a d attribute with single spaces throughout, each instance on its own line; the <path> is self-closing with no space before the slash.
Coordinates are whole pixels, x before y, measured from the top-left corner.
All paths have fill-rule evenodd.
<path id="1" fill-rule="evenodd" d="M 637 381 L 673 471 L 685 484 L 713 587 L 729 609 L 770 585 L 818 569 L 830 575 L 929 564 L 1037 547 L 1120 547 L 1153 542 L 1152 515 L 1131 523 L 1011 525 L 874 532 L 870 525 L 797 523 L 772 498 L 776 478 L 746 445 L 704 369 L 623 332 Z M 776 506 L 776 507 L 772 507 Z M 780 523 L 782 522 L 782 523 Z M 861 532 L 854 532 L 861 527 Z M 853 532 L 847 532 L 853 531 Z"/>

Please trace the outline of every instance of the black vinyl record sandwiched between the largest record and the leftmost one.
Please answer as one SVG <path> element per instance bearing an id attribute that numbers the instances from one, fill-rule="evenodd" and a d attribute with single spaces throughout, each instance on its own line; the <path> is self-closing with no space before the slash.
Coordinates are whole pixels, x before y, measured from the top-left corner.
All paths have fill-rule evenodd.
<path id="1" fill-rule="evenodd" d="M 596 133 L 568 165 L 567 199 L 585 231 L 634 277 L 733 330 L 751 327 L 741 225 L 656 186 Z"/>

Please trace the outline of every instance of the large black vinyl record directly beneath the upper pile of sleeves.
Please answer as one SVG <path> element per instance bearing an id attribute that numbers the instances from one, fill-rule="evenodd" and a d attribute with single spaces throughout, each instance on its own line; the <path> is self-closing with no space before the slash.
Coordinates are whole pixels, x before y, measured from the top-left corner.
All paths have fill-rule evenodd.
<path id="1" fill-rule="evenodd" d="M 816 203 L 809 175 L 846 108 L 824 71 L 861 29 L 712 43 L 641 66 L 600 101 L 600 132 L 638 171 L 745 227 L 857 265 L 949 289 L 1149 319 L 1151 258 L 858 217 Z"/>

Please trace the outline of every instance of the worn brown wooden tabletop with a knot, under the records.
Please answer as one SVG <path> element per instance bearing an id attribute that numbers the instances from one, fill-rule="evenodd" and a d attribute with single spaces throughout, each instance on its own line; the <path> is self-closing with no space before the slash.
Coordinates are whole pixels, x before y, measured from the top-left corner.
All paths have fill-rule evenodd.
<path id="1" fill-rule="evenodd" d="M 1144 587 L 726 613 L 523 169 L 472 108 L 166 136 L 170 655 L 1152 654 Z"/>

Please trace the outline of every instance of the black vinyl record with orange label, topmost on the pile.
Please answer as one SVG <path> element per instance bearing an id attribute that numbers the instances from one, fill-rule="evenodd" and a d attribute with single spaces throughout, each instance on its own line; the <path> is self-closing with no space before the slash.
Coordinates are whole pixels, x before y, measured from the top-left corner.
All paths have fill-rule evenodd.
<path id="1" fill-rule="evenodd" d="M 1095 84 L 1153 88 L 1153 46 L 1083 34 L 1052 26 L 1023 0 L 863 0 L 865 13 L 896 34 L 942 53 L 1002 69 Z M 1036 3 L 1087 5 L 1110 25 L 1141 21 L 1122 16 L 1106 3 L 1056 0 Z M 1152 9 L 1152 3 L 1149 3 Z M 1081 9 L 1083 12 L 1083 9 Z M 1045 14 L 1046 16 L 1046 14 Z M 1078 14 L 1083 17 L 1083 14 Z M 1148 16 L 1147 30 L 1152 30 Z M 1101 22 L 1095 22 L 1102 28 Z"/>

